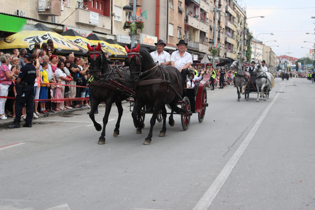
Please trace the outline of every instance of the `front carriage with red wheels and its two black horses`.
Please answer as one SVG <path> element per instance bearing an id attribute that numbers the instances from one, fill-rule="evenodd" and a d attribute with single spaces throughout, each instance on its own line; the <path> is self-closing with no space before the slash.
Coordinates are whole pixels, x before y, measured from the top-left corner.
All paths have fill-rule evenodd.
<path id="1" fill-rule="evenodd" d="M 180 73 L 175 67 L 156 65 L 146 49 L 128 49 L 125 65 L 129 68 L 111 68 L 104 53 L 98 46 L 89 46 L 88 60 L 91 64 L 92 76 L 91 92 L 93 96 L 89 117 L 94 123 L 95 129 L 100 131 L 102 126 L 95 121 L 94 112 L 100 102 L 105 102 L 106 110 L 103 118 L 103 131 L 98 144 L 105 144 L 105 128 L 112 104 L 115 103 L 118 109 L 118 119 L 113 136 L 119 135 L 120 120 L 123 113 L 122 101 L 129 97 L 130 102 L 134 102 L 132 117 L 137 133 L 141 133 L 144 128 L 145 114 L 152 113 L 150 119 L 150 131 L 143 144 L 151 144 L 153 126 L 158 120 L 163 120 L 163 127 L 160 137 L 165 136 L 166 115 L 169 116 L 169 125 L 174 126 L 174 112 L 181 115 L 181 124 L 187 130 L 190 124 L 192 113 L 198 113 L 198 120 L 204 119 L 207 104 L 207 91 L 205 83 L 209 76 L 204 76 L 203 80 L 195 82 L 195 88 L 184 88 L 188 70 L 183 69 Z M 145 62 L 144 62 L 145 60 Z M 166 112 L 166 107 L 171 109 Z M 180 107 L 179 107 L 180 106 Z M 131 111 L 131 110 L 130 110 Z"/>

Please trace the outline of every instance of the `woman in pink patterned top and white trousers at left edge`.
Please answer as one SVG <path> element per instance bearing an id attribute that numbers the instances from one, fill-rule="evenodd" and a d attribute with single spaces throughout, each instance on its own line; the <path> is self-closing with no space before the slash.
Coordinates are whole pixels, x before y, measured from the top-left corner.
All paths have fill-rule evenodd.
<path id="1" fill-rule="evenodd" d="M 12 84 L 11 78 L 13 77 L 16 68 L 14 67 L 12 71 L 9 69 L 10 60 L 7 55 L 3 54 L 0 57 L 0 96 L 8 96 L 9 86 Z M 4 114 L 4 105 L 7 99 L 0 98 L 0 119 L 5 120 L 7 117 Z"/>

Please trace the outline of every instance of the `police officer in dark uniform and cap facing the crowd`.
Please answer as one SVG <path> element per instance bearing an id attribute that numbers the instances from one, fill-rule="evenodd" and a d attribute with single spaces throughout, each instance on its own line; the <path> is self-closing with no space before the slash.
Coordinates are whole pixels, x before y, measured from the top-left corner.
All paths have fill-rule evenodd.
<path id="1" fill-rule="evenodd" d="M 15 119 L 8 128 L 20 128 L 22 109 L 26 105 L 26 119 L 23 127 L 32 127 L 32 118 L 34 111 L 34 84 L 36 79 L 36 68 L 32 64 L 32 54 L 25 53 L 23 60 L 25 66 L 20 69 L 19 77 L 16 81 L 16 101 L 15 101 Z"/>

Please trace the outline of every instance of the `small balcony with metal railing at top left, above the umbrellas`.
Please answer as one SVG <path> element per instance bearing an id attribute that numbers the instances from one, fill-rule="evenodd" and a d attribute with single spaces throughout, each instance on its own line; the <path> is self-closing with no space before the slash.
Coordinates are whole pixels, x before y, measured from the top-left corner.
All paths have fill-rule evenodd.
<path id="1" fill-rule="evenodd" d="M 61 15 L 60 0 L 38 0 L 38 14 L 46 16 Z"/>

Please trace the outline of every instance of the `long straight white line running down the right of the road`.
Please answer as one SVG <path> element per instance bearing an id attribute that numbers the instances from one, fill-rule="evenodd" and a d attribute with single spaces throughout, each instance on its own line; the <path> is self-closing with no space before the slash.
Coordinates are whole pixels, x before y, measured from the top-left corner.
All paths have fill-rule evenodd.
<path id="1" fill-rule="evenodd" d="M 282 88 L 279 90 L 279 92 L 282 91 Z M 267 115 L 268 111 L 270 110 L 273 103 L 278 98 L 279 93 L 276 94 L 275 98 L 272 100 L 272 102 L 267 106 L 266 110 L 262 113 L 261 117 L 258 119 L 252 130 L 249 132 L 247 137 L 244 139 L 243 143 L 238 147 L 234 155 L 231 157 L 229 162 L 226 163 L 225 167 L 221 170 L 220 174 L 217 176 L 215 181 L 211 184 L 211 186 L 208 188 L 208 190 L 203 194 L 201 199 L 198 201 L 196 206 L 193 208 L 193 210 L 207 210 L 210 206 L 211 202 L 215 198 L 215 196 L 218 194 L 219 190 L 225 183 L 227 177 L 230 175 L 231 171 L 233 170 L 235 164 L 238 162 L 239 158 L 242 156 L 244 150 L 249 145 L 250 141 L 254 137 L 257 129 L 259 128 L 261 122 L 264 120 L 265 116 Z"/>

